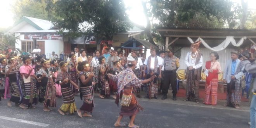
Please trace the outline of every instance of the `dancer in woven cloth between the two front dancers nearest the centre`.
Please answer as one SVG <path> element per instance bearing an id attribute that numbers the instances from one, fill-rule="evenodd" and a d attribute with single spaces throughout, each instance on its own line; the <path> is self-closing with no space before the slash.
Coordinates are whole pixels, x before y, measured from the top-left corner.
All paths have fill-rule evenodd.
<path id="1" fill-rule="evenodd" d="M 76 56 L 75 55 L 71 56 L 71 61 L 69 61 L 68 66 L 69 66 L 69 75 L 71 76 L 71 80 L 74 83 L 76 83 L 76 85 L 78 85 L 78 79 L 77 79 L 78 74 L 76 72 L 77 62 L 76 62 Z M 72 90 L 73 90 L 73 93 L 75 95 L 78 94 L 78 89 L 72 87 Z"/>

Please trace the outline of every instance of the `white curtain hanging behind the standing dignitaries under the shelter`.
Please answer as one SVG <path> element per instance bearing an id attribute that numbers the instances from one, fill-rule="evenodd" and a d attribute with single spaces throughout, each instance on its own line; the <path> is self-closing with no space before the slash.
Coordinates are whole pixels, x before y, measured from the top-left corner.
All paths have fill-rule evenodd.
<path id="1" fill-rule="evenodd" d="M 218 51 L 217 53 L 220 56 L 220 59 L 218 61 L 220 62 L 220 66 L 222 71 L 224 70 L 226 66 L 226 62 L 231 59 L 230 58 L 230 52 L 234 50 L 232 48 L 226 48 L 224 50 Z M 187 69 L 187 66 L 184 63 L 185 57 L 187 53 L 190 52 L 189 47 L 184 47 L 181 49 L 181 56 L 180 56 L 180 68 L 179 69 Z M 205 62 L 210 60 L 210 53 L 213 52 L 212 50 L 209 50 L 208 48 L 200 48 L 200 52 L 203 55 L 203 65 L 202 68 L 205 69 Z"/>

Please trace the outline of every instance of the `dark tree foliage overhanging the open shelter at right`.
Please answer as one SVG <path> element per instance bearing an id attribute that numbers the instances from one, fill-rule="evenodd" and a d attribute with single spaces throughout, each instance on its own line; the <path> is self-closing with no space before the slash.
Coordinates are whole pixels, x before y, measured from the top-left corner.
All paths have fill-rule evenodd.
<path id="1" fill-rule="evenodd" d="M 232 0 L 152 0 L 149 10 L 160 26 L 173 28 L 234 28 L 241 13 Z"/>

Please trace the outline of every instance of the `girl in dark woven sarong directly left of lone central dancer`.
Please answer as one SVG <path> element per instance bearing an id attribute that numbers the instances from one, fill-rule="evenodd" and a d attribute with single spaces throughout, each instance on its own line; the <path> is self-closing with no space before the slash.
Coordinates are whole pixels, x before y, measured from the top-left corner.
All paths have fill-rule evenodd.
<path id="1" fill-rule="evenodd" d="M 108 98 L 110 96 L 110 89 L 109 89 L 109 83 L 106 80 L 106 71 L 108 69 L 108 66 L 106 66 L 106 59 L 104 56 L 99 57 L 99 64 L 100 64 L 100 73 L 99 73 L 99 78 L 100 78 L 100 84 L 102 86 L 102 90 L 100 92 L 99 97 L 104 99 Z"/>

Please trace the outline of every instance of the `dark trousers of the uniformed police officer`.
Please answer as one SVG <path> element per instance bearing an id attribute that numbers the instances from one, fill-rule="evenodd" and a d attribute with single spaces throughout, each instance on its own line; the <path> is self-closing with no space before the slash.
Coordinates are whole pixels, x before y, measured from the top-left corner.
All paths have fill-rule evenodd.
<path id="1" fill-rule="evenodd" d="M 176 76 L 176 71 L 172 70 L 172 71 L 164 71 L 164 85 L 162 88 L 162 92 L 164 95 L 167 95 L 168 93 L 168 89 L 170 87 L 171 84 L 171 89 L 173 90 L 173 96 L 176 97 L 177 94 L 177 76 Z"/>

